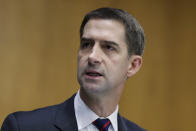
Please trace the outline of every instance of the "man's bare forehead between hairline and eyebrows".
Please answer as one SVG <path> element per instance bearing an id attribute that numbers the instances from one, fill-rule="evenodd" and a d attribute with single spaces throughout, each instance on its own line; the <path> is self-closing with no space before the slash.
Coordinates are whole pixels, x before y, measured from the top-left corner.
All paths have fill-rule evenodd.
<path id="1" fill-rule="evenodd" d="M 125 27 L 117 20 L 90 19 L 84 27 L 82 37 L 125 43 Z"/>

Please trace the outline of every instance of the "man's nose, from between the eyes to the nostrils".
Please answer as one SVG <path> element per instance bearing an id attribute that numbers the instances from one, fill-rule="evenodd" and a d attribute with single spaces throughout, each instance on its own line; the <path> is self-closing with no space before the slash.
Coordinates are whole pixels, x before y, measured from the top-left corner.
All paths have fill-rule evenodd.
<path id="1" fill-rule="evenodd" d="M 89 56 L 88 56 L 88 63 L 91 65 L 100 64 L 102 61 L 101 58 L 101 49 L 98 43 L 95 43 Z"/>

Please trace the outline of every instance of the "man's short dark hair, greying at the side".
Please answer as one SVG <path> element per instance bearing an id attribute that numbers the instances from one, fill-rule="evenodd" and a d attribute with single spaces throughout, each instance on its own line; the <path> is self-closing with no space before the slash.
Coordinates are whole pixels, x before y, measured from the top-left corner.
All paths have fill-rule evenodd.
<path id="1" fill-rule="evenodd" d="M 80 38 L 83 35 L 84 26 L 90 19 L 114 19 L 125 26 L 125 36 L 128 55 L 142 55 L 145 46 L 145 35 L 141 25 L 129 13 L 116 8 L 99 8 L 86 14 L 80 26 Z"/>

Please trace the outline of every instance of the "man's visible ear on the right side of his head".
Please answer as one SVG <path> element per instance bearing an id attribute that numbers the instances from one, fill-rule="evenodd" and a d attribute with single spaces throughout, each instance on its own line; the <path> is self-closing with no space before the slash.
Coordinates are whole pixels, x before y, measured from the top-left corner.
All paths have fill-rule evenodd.
<path id="1" fill-rule="evenodd" d="M 132 55 L 129 58 L 129 67 L 127 71 L 127 77 L 133 76 L 135 73 L 137 73 L 141 66 L 142 66 L 142 57 L 139 55 Z"/>

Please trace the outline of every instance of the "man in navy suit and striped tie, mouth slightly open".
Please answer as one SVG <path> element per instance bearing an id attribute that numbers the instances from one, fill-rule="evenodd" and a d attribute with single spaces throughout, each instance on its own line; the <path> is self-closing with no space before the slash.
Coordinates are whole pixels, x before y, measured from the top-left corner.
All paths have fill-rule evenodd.
<path id="1" fill-rule="evenodd" d="M 80 90 L 62 104 L 10 114 L 1 131 L 144 131 L 118 113 L 124 84 L 142 65 L 144 39 L 120 9 L 88 13 L 80 28 Z"/>

